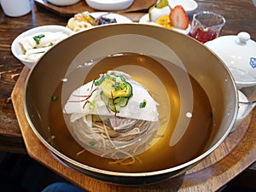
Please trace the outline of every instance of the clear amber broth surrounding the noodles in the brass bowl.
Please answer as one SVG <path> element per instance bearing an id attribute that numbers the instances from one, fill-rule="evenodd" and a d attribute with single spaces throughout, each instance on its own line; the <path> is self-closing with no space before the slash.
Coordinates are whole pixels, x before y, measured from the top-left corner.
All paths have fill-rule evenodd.
<path id="1" fill-rule="evenodd" d="M 177 65 L 172 63 L 168 63 L 168 65 L 172 73 L 184 72 Z M 92 79 L 98 79 L 99 74 L 106 73 L 108 70 L 128 73 L 132 79 L 143 84 L 154 97 L 154 100 L 160 104 L 158 110 L 160 113 L 159 134 L 161 137 L 146 152 L 137 155 L 137 160 L 133 164 L 113 163 L 114 160 L 91 154 L 86 150 L 84 153 L 78 154 L 84 148 L 73 139 L 67 129 L 62 113 L 61 106 L 63 106 L 63 103 L 61 103 L 61 99 L 52 101 L 49 108 L 49 131 L 52 136 L 55 136 L 51 142 L 52 145 L 62 154 L 84 165 L 113 172 L 154 172 L 193 160 L 203 152 L 211 135 L 212 108 L 201 85 L 189 76 L 193 90 L 191 92 L 193 100 L 190 101 L 193 102 L 193 111 L 190 112 L 192 117 L 181 114 L 181 108 L 183 107 L 181 106 L 180 94 L 182 93 L 180 93 L 177 79 L 172 77 L 170 69 L 167 70 L 160 61 L 147 55 L 124 54 L 103 58 L 93 67 L 90 67 L 90 70 L 86 71 L 87 75 L 84 79 L 84 84 Z M 68 87 L 69 79 L 75 79 L 77 73 L 81 73 L 81 70 L 76 69 L 69 74 L 67 82 L 61 82 L 53 96 L 63 97 L 63 84 Z M 70 90 L 72 91 L 76 88 L 78 87 L 72 87 Z M 65 100 L 67 101 L 67 98 Z M 189 118 L 189 125 L 183 137 L 174 146 L 170 146 L 170 139 L 173 131 L 178 128 L 176 125 L 180 116 L 183 119 Z"/>

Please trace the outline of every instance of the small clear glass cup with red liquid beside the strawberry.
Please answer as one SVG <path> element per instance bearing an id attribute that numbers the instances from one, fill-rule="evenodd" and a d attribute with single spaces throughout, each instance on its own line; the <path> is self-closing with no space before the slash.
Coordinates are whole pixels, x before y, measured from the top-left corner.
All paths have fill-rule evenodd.
<path id="1" fill-rule="evenodd" d="M 224 25 L 225 19 L 222 15 L 210 11 L 201 11 L 193 15 L 189 36 L 204 44 L 218 38 Z"/>

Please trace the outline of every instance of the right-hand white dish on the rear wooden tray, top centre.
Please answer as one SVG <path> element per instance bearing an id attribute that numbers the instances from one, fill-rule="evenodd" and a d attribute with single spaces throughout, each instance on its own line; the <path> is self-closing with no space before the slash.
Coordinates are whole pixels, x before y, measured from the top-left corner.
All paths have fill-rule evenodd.
<path id="1" fill-rule="evenodd" d="M 134 0 L 85 0 L 85 2 L 93 9 L 113 11 L 129 8 Z"/>

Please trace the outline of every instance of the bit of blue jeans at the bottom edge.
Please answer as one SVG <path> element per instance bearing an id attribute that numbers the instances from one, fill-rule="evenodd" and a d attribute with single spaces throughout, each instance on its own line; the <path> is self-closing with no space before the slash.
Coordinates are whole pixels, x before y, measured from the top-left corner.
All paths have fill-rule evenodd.
<path id="1" fill-rule="evenodd" d="M 78 187 L 69 183 L 52 183 L 49 184 L 42 192 L 85 192 Z"/>

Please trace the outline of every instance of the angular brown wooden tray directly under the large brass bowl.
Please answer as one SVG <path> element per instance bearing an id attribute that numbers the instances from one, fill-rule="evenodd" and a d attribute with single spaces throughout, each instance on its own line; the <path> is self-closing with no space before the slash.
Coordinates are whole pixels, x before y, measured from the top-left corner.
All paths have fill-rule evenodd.
<path id="1" fill-rule="evenodd" d="M 241 126 L 236 131 L 230 133 L 224 143 L 183 176 L 137 187 L 103 183 L 87 177 L 55 159 L 55 156 L 39 141 L 28 124 L 24 113 L 24 90 L 28 73 L 29 69 L 24 67 L 11 96 L 27 153 L 44 166 L 49 167 L 49 169 L 87 191 L 216 191 L 256 160 L 256 110 L 254 109 L 253 113 L 245 119 Z"/>

